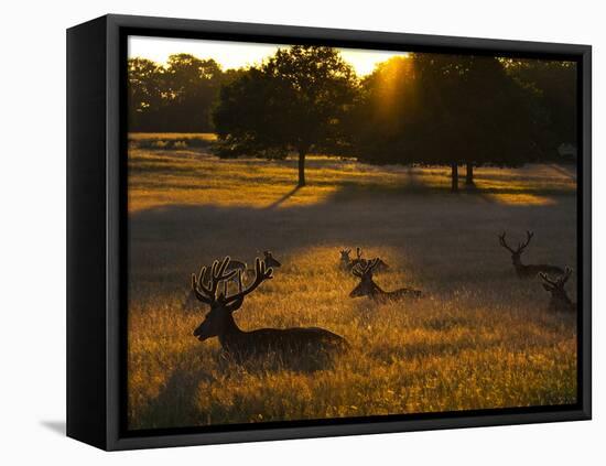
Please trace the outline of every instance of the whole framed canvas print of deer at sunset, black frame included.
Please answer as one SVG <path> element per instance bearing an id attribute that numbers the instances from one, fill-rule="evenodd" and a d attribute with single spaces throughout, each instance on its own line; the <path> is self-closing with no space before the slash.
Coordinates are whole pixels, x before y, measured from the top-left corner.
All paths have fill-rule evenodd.
<path id="1" fill-rule="evenodd" d="M 67 33 L 67 433 L 591 419 L 591 47 Z"/>

